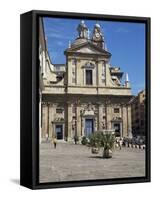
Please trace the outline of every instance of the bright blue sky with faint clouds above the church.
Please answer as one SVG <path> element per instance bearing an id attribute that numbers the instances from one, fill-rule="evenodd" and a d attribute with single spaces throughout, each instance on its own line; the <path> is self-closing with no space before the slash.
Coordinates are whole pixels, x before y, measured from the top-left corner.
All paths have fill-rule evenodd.
<path id="1" fill-rule="evenodd" d="M 77 26 L 81 19 L 44 17 L 47 48 L 53 64 L 65 64 L 64 50 L 78 36 Z M 84 20 L 90 36 L 96 20 Z M 112 54 L 110 64 L 127 72 L 136 95 L 145 88 L 145 24 L 112 21 L 99 22 L 107 50 Z"/>

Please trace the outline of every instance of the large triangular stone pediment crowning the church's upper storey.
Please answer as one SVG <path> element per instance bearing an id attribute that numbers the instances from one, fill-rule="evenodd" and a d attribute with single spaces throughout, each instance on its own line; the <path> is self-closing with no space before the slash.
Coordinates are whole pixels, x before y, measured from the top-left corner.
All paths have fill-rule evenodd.
<path id="1" fill-rule="evenodd" d="M 71 48 L 68 48 L 65 52 L 81 53 L 81 54 L 98 54 L 98 55 L 106 55 L 109 57 L 111 56 L 111 54 L 108 51 L 96 46 L 95 44 L 89 41 L 82 43 L 80 45 L 72 46 Z"/>

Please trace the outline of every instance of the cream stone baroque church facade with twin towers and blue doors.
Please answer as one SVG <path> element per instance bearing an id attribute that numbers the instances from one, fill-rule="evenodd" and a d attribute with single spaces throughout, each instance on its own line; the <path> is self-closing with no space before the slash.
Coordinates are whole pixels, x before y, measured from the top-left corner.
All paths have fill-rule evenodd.
<path id="1" fill-rule="evenodd" d="M 40 139 L 72 141 L 97 130 L 115 130 L 117 137 L 131 133 L 132 98 L 128 74 L 110 65 L 99 23 L 92 37 L 84 21 L 78 37 L 64 51 L 65 64 L 52 64 L 40 19 Z"/>

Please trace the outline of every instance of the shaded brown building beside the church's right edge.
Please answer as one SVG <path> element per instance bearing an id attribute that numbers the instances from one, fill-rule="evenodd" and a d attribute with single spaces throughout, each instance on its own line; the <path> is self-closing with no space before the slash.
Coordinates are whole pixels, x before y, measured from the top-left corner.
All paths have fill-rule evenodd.
<path id="1" fill-rule="evenodd" d="M 145 90 L 142 90 L 131 101 L 133 136 L 145 136 Z"/>

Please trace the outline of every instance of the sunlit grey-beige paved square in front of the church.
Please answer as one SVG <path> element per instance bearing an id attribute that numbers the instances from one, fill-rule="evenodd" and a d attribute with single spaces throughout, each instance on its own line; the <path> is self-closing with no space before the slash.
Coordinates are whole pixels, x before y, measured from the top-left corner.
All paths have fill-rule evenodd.
<path id="1" fill-rule="evenodd" d="M 101 155 L 83 145 L 58 143 L 54 149 L 53 144 L 42 143 L 40 182 L 145 176 L 145 150 L 116 149 L 111 159 Z"/>

